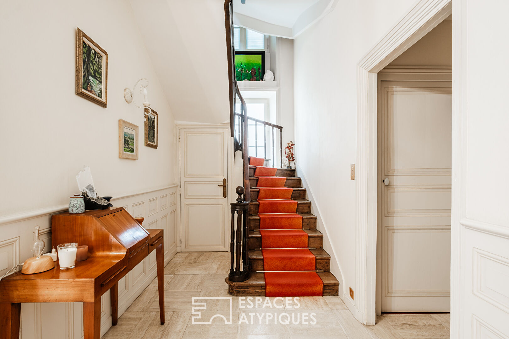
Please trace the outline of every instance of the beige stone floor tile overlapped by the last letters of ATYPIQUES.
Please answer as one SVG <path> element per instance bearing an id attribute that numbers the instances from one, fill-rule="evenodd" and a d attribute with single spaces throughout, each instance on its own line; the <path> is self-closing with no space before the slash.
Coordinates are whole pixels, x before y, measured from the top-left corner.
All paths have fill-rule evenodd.
<path id="1" fill-rule="evenodd" d="M 343 327 L 331 310 L 298 310 L 286 313 L 291 317 L 288 328 L 292 339 L 347 339 Z M 305 314 L 307 314 L 307 324 L 302 321 Z M 297 315 L 300 315 L 300 319 Z M 316 323 L 313 323 L 313 317 Z M 294 324 L 294 321 L 299 323 Z"/>

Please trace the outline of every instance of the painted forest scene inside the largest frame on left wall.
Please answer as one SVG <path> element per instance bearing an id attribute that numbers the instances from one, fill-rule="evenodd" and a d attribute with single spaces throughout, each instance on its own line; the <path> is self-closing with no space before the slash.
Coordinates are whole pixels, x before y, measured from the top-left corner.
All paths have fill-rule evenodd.
<path id="1" fill-rule="evenodd" d="M 102 55 L 83 41 L 84 90 L 102 99 Z"/>

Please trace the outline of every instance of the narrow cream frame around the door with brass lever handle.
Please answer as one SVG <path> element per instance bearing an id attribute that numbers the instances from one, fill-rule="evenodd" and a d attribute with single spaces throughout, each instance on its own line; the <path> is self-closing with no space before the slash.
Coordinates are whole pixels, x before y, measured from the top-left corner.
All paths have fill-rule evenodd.
<path id="1" fill-rule="evenodd" d="M 175 139 L 176 139 L 176 148 L 177 148 L 177 159 L 175 162 L 175 173 L 176 178 L 179 182 L 179 194 L 178 197 L 178 203 L 177 203 L 177 211 L 178 212 L 178 247 L 177 252 L 182 252 L 182 215 L 180 213 L 180 192 L 182 191 L 182 187 L 180 185 L 180 130 L 181 129 L 210 129 L 210 128 L 224 128 L 227 129 L 227 161 L 228 161 L 228 175 L 227 175 L 227 192 L 228 192 L 228 203 L 236 202 L 237 194 L 235 193 L 235 185 L 234 185 L 234 177 L 233 177 L 233 138 L 230 136 L 230 122 L 227 124 L 218 124 L 218 125 L 211 125 L 211 124 L 192 124 L 192 123 L 183 123 L 183 124 L 175 124 Z M 228 205 L 229 206 L 229 205 Z M 230 234 L 230 224 L 231 224 L 231 213 L 228 214 L 228 220 L 225 221 L 225 241 L 228 243 L 230 241 L 229 234 Z"/>

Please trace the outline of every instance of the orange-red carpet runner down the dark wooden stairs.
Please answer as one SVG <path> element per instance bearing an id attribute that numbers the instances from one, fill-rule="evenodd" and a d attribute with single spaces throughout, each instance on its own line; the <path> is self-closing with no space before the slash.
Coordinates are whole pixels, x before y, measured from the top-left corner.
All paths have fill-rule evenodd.
<path id="1" fill-rule="evenodd" d="M 275 176 L 277 169 L 263 167 L 262 158 L 249 157 L 249 164 L 257 166 L 254 176 L 258 176 L 257 187 L 260 190 L 258 213 L 264 249 L 262 250 L 264 270 L 286 271 L 264 273 L 265 295 L 268 297 L 323 295 L 323 282 L 316 272 L 288 272 L 316 269 L 315 255 L 306 249 L 307 233 L 297 229 L 302 228 L 302 216 L 296 213 L 297 201 L 291 200 L 293 189 L 284 187 L 286 177 Z"/>

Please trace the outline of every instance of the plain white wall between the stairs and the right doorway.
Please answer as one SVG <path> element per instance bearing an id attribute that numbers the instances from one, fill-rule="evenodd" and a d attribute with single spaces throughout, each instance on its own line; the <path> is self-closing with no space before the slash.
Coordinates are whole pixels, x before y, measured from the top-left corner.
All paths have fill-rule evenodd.
<path id="1" fill-rule="evenodd" d="M 343 2 L 294 41 L 298 175 L 304 178 L 340 295 L 355 288 L 357 63 L 408 11 L 406 0 Z M 360 291 L 354 291 L 361 293 Z M 351 310 L 355 302 L 346 300 Z"/>

